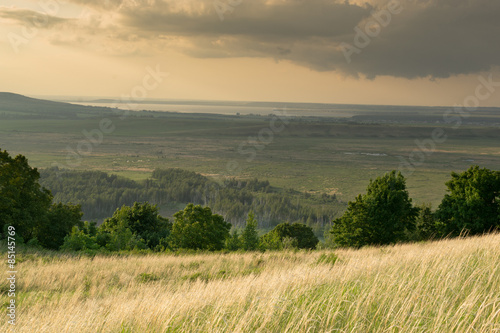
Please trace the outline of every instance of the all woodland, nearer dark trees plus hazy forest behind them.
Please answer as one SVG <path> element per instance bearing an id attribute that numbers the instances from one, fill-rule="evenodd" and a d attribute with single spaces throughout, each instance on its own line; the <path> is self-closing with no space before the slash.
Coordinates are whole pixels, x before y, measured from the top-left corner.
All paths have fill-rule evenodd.
<path id="1" fill-rule="evenodd" d="M 24 156 L 13 158 L 0 150 L 2 238 L 15 230 L 21 243 L 66 251 L 266 251 L 315 249 L 318 244 L 361 248 L 477 235 L 500 227 L 500 171 L 479 166 L 451 173 L 449 193 L 435 211 L 413 204 L 400 172 L 377 177 L 324 228 L 321 243 L 310 224 L 329 217 L 315 215 L 299 200 L 294 204 L 297 194 L 277 193 L 267 181 L 232 179 L 216 187 L 200 174 L 178 169 L 156 170 L 143 184 L 99 172 L 46 172 L 45 184 L 57 185 L 51 190 Z M 109 184 L 110 190 L 99 193 Z M 333 196 L 315 200 L 338 207 Z M 94 214 L 114 212 L 99 226 L 84 222 L 79 201 L 97 206 Z M 169 219 L 158 208 L 167 202 L 189 203 Z M 246 214 L 243 223 L 239 214 Z M 259 236 L 259 228 L 267 233 Z"/>

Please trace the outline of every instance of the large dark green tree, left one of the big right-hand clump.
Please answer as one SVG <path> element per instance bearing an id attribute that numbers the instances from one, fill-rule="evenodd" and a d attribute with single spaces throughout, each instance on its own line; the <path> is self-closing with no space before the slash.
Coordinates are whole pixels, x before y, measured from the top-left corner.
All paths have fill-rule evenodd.
<path id="1" fill-rule="evenodd" d="M 370 180 L 367 193 L 349 202 L 344 215 L 333 221 L 331 232 L 336 246 L 396 243 L 414 230 L 417 214 L 405 178 L 392 171 Z"/>

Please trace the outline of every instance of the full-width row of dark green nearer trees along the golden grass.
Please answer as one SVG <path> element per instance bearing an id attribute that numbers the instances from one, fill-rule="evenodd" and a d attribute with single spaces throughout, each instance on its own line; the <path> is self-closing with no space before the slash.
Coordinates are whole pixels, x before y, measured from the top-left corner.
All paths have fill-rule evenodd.
<path id="1" fill-rule="evenodd" d="M 189 177 L 186 177 L 186 173 Z M 93 185 L 116 183 L 141 188 L 136 182 L 106 174 L 91 173 Z M 99 177 L 95 177 L 99 175 Z M 183 191 L 163 192 L 176 198 L 194 195 L 193 188 L 205 178 L 182 170 L 157 170 L 144 186 L 150 190 L 158 184 L 180 184 Z M 156 204 L 134 202 L 116 209 L 111 217 L 97 226 L 83 221 L 80 205 L 54 201 L 54 195 L 43 187 L 36 168 L 22 156 L 11 157 L 0 150 L 0 238 L 14 227 L 18 242 L 54 250 L 113 251 L 202 251 L 279 250 L 283 248 L 314 249 L 319 240 L 313 229 L 299 222 L 278 223 L 259 236 L 260 221 L 252 210 L 241 228 L 234 228 L 227 218 L 208 205 L 189 203 L 173 214 L 160 215 Z M 85 190 L 85 178 L 74 185 Z M 248 203 L 256 193 L 273 193 L 267 182 L 257 180 L 234 187 L 248 189 Z M 99 183 L 101 182 L 101 183 Z M 80 186 L 80 187 L 79 187 Z M 433 211 L 430 205 L 415 206 L 406 188 L 406 179 L 392 171 L 371 180 L 365 194 L 349 202 L 344 214 L 333 220 L 325 233 L 326 247 L 355 247 L 421 241 L 460 235 L 477 235 L 500 227 L 500 172 L 472 166 L 462 173 L 452 172 L 446 183 L 448 193 Z M 168 189 L 168 187 L 167 187 Z M 228 189 L 234 189 L 231 185 Z M 251 189 L 251 190 L 250 190 Z M 229 192 L 231 193 L 231 192 Z M 197 192 L 210 202 L 213 192 Z M 192 197 L 191 197 L 192 198 Z M 251 207 L 251 205 L 249 205 Z M 286 221 L 286 220 L 285 220 Z"/>

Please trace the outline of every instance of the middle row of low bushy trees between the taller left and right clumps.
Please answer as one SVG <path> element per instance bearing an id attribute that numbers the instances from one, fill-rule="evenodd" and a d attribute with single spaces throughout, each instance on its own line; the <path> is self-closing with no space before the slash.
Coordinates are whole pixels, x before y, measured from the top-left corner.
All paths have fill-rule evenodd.
<path id="1" fill-rule="evenodd" d="M 263 236 L 258 235 L 252 212 L 241 232 L 233 229 L 210 207 L 188 204 L 174 214 L 173 222 L 158 214 L 158 207 L 135 203 L 117 209 L 99 227 L 84 222 L 75 225 L 60 246 L 65 251 L 90 253 L 113 251 L 265 251 L 283 248 L 314 249 L 319 240 L 312 229 L 300 223 L 281 223 Z"/>

